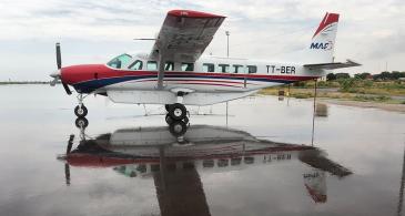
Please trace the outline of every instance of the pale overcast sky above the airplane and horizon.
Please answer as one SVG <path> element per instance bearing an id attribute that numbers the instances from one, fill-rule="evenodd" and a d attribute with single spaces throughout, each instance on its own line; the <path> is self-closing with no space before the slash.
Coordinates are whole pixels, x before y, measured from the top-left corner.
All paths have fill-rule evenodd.
<path id="1" fill-rule="evenodd" d="M 1 0 L 0 81 L 51 80 L 62 65 L 105 63 L 124 52 L 150 52 L 169 10 L 225 16 L 205 54 L 298 61 L 325 12 L 341 14 L 335 61 L 360 68 L 336 72 L 405 71 L 404 0 Z"/>

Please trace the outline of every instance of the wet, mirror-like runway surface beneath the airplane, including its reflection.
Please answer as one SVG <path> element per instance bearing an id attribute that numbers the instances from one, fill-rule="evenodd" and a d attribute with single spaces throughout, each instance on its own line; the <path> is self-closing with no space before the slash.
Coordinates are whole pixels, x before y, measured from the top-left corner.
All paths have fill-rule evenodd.
<path id="1" fill-rule="evenodd" d="M 0 215 L 404 215 L 404 114 L 327 105 L 313 133 L 312 101 L 254 96 L 173 135 L 159 105 L 90 95 L 78 128 L 61 86 L 0 97 Z"/>

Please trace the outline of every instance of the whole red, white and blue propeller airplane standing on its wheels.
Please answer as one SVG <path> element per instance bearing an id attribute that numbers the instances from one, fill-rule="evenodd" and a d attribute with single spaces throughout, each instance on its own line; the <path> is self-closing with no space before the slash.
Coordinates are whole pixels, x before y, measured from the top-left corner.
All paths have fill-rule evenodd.
<path id="1" fill-rule="evenodd" d="M 50 74 L 51 85 L 61 81 L 68 94 L 72 94 L 69 85 L 74 88 L 79 93 L 74 113 L 80 117 L 88 114 L 84 97 L 99 94 L 115 103 L 164 104 L 168 123 L 188 123 L 185 105 L 223 103 L 264 88 L 315 80 L 328 70 L 361 65 L 351 60 L 334 62 L 338 18 L 326 12 L 305 50 L 311 62 L 291 63 L 202 55 L 225 17 L 171 10 L 150 53 L 123 53 L 105 64 L 62 68 L 57 43 L 58 70 Z"/>

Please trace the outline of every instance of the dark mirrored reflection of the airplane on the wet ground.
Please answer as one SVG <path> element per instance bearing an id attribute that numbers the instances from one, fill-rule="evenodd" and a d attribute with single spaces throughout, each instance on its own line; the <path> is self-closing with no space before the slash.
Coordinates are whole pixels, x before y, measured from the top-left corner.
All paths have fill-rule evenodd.
<path id="1" fill-rule="evenodd" d="M 303 185 L 316 203 L 326 202 L 325 173 L 338 178 L 352 174 L 314 146 L 259 140 L 227 127 L 191 125 L 183 135 L 173 135 L 168 126 L 120 128 L 95 138 L 88 138 L 84 128 L 77 148 L 71 151 L 71 135 L 67 154 L 58 157 L 65 161 L 67 184 L 70 166 L 113 167 L 129 177 L 151 177 L 162 215 L 181 215 L 176 210 L 188 207 L 194 214 L 196 209 L 209 210 L 200 172 L 254 166 L 265 171 L 267 165 L 300 161 L 306 165 Z"/>

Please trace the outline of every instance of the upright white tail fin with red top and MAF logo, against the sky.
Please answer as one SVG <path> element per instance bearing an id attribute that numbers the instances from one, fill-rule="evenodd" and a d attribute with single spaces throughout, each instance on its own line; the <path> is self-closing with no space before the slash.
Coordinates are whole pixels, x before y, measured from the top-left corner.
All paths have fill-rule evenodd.
<path id="1" fill-rule="evenodd" d="M 312 63 L 333 62 L 337 22 L 337 13 L 326 12 L 308 45 L 308 58 Z"/>

